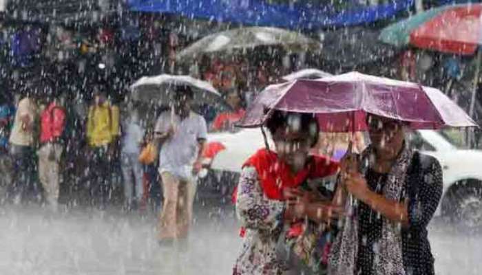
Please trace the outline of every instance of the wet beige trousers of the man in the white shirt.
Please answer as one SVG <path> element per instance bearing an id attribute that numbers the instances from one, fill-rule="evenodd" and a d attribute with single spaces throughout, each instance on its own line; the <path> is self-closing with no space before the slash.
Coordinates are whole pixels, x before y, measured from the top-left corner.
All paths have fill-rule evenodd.
<path id="1" fill-rule="evenodd" d="M 180 180 L 171 173 L 162 173 L 164 203 L 159 215 L 159 239 L 184 239 L 193 218 L 196 184 Z"/>

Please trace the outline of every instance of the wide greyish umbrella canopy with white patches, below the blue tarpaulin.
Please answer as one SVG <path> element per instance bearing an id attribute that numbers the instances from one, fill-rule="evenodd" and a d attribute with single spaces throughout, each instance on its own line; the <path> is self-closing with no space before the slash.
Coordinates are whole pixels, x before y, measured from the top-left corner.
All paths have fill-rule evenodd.
<path id="1" fill-rule="evenodd" d="M 282 46 L 293 52 L 319 49 L 319 43 L 298 32 L 279 28 L 251 27 L 206 36 L 182 50 L 178 58 L 192 58 L 202 54 L 252 49 L 258 46 Z"/>

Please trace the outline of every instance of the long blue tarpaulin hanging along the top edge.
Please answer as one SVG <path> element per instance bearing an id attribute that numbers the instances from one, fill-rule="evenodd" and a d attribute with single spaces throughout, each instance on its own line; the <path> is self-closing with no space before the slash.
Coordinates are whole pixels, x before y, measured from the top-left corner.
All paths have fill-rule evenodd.
<path id="1" fill-rule="evenodd" d="M 325 3 L 326 2 L 326 3 Z M 413 5 L 413 0 L 360 1 L 273 0 L 128 0 L 130 10 L 163 12 L 185 17 L 275 26 L 316 29 L 348 26 L 386 19 Z M 332 4 L 330 4 L 332 3 Z"/>

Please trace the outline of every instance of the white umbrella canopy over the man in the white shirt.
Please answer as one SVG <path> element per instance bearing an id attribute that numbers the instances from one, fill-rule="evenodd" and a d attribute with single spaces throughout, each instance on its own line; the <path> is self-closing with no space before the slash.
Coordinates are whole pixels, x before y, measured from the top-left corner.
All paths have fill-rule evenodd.
<path id="1" fill-rule="evenodd" d="M 194 91 L 194 102 L 197 104 L 217 104 L 222 97 L 214 87 L 191 76 L 173 76 L 161 74 L 159 76 L 144 76 L 131 85 L 132 99 L 142 102 L 160 102 L 167 104 L 171 101 L 172 89 L 178 85 L 187 85 Z"/>

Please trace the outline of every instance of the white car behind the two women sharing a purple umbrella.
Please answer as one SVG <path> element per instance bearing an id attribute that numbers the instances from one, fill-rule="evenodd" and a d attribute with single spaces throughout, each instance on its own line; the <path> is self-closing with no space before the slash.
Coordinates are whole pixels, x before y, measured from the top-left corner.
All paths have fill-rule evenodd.
<path id="1" fill-rule="evenodd" d="M 415 131 L 409 136 L 414 148 L 436 157 L 443 168 L 443 198 L 436 214 L 452 217 L 468 228 L 481 227 L 482 151 L 458 148 L 438 131 Z M 220 142 L 226 147 L 211 162 L 211 170 L 223 173 L 218 184 L 225 190 L 235 186 L 247 158 L 266 146 L 260 129 L 213 133 L 209 142 Z"/>

